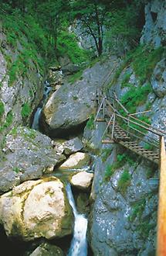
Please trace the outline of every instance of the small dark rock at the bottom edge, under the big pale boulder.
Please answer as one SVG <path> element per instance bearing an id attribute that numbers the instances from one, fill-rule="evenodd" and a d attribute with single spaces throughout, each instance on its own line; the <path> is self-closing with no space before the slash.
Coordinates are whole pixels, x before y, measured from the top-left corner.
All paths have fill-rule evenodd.
<path id="1" fill-rule="evenodd" d="M 36 248 L 29 256 L 65 256 L 63 251 L 53 244 L 43 243 Z"/>

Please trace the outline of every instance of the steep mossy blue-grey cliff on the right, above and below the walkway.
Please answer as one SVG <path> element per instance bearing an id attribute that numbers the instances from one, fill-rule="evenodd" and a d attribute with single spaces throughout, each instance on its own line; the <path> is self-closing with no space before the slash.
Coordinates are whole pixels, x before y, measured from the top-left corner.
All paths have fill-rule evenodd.
<path id="1" fill-rule="evenodd" d="M 140 46 L 115 74 L 109 94 L 117 93 L 129 112 L 141 112 L 152 126 L 166 130 L 165 3 L 145 7 Z M 154 19 L 155 18 L 155 19 Z M 151 47 L 152 43 L 154 47 Z M 156 48 L 156 50 L 154 50 Z M 147 50 L 148 49 L 148 50 Z M 139 60 L 139 61 L 138 61 Z M 97 152 L 91 198 L 90 244 L 96 256 L 152 255 L 156 247 L 158 164 L 118 144 L 100 143 L 104 123 L 85 129 L 85 143 Z M 151 134 L 148 133 L 151 137 Z"/>

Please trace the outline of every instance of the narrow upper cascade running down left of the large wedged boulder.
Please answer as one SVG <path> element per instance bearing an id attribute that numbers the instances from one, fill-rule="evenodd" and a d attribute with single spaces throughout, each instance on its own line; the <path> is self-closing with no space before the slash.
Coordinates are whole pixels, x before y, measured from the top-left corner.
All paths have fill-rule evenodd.
<path id="1" fill-rule="evenodd" d="M 46 102 L 46 99 L 49 96 L 50 91 L 51 91 L 51 87 L 49 85 L 49 82 L 45 81 L 44 82 L 44 93 L 43 93 L 43 96 L 42 96 L 42 101 L 40 103 L 40 106 L 36 110 L 36 113 L 34 115 L 33 122 L 32 122 L 32 129 L 34 129 L 34 130 L 39 130 L 39 119 L 40 119 L 40 116 L 41 116 L 42 108 L 44 106 L 44 103 Z"/>

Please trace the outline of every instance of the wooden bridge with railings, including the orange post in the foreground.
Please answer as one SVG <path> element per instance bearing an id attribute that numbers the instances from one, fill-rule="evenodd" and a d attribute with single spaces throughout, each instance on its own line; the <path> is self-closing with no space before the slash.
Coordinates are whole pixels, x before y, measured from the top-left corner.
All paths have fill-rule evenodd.
<path id="1" fill-rule="evenodd" d="M 108 99 L 106 93 L 99 90 L 96 100 L 97 115 L 94 121 L 106 123 L 102 143 L 120 144 L 160 167 L 157 255 L 166 256 L 166 131 L 141 120 L 141 115 L 149 111 L 128 112 L 115 93 Z"/>

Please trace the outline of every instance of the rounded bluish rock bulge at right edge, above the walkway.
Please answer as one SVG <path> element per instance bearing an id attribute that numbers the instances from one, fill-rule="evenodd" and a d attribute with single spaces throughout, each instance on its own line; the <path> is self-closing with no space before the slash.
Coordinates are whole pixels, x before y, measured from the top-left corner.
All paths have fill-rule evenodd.
<path id="1" fill-rule="evenodd" d="M 154 68 L 154 73 L 151 78 L 151 85 L 156 95 L 159 98 L 166 95 L 166 59 L 158 62 Z"/>

